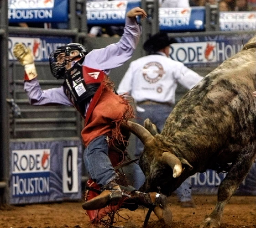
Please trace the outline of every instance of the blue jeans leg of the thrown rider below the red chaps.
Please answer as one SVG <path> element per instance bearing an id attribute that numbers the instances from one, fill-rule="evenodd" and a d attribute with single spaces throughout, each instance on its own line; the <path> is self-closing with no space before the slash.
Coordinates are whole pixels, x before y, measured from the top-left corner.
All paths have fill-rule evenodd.
<path id="1" fill-rule="evenodd" d="M 92 140 L 84 150 L 84 165 L 89 177 L 100 186 L 108 184 L 117 176 L 110 158 L 105 135 Z"/>

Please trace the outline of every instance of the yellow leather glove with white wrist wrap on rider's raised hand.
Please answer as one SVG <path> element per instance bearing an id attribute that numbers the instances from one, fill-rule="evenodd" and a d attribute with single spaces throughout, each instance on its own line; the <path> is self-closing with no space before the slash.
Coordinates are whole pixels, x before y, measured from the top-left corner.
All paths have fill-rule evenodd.
<path id="1" fill-rule="evenodd" d="M 34 63 L 34 56 L 29 47 L 25 47 L 22 43 L 17 43 L 13 48 L 13 54 L 17 60 L 25 68 L 25 81 L 32 80 L 37 77 L 37 70 Z"/>

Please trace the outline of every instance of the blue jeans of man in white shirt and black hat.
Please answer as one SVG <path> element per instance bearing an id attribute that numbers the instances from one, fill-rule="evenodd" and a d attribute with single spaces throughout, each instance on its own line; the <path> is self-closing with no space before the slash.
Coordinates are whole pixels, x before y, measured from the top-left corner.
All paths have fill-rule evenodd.
<path id="1" fill-rule="evenodd" d="M 166 104 L 141 104 L 140 107 L 145 109 L 145 112 L 137 112 L 137 123 L 144 125 L 144 120 L 149 118 L 153 124 L 157 126 L 157 130 L 160 133 L 163 130 L 165 121 L 169 114 L 172 112 L 172 107 Z M 141 140 L 136 138 L 136 152 L 135 157 L 138 158 L 143 152 L 143 144 Z M 134 164 L 132 166 L 133 173 L 134 173 L 134 183 L 133 187 L 139 189 L 143 183 L 145 182 L 146 178 L 143 172 L 141 171 L 140 166 Z M 192 190 L 191 190 L 191 183 L 190 178 L 185 180 L 180 187 L 176 189 L 176 193 L 178 199 L 181 202 L 186 202 L 192 200 Z"/>

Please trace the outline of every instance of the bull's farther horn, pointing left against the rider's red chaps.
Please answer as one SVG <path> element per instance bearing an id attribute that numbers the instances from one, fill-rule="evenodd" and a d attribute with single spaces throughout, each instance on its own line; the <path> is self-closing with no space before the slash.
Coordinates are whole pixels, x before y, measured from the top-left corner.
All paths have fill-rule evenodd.
<path id="1" fill-rule="evenodd" d="M 126 130 L 131 131 L 131 133 L 133 133 L 134 135 L 136 135 L 144 145 L 146 141 L 154 138 L 154 136 L 152 136 L 150 132 L 146 130 L 146 128 L 130 120 L 128 120 L 126 124 L 121 124 L 121 126 Z"/>

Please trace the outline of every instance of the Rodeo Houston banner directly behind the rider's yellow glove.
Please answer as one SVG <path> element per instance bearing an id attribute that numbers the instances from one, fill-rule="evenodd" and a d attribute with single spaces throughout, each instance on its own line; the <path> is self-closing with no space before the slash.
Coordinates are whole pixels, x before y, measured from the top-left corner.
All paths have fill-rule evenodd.
<path id="1" fill-rule="evenodd" d="M 8 40 L 8 55 L 9 60 L 16 60 L 13 55 L 13 47 L 16 43 L 22 42 L 26 47 L 30 47 L 35 57 L 35 61 L 47 62 L 49 55 L 58 47 L 72 43 L 70 37 L 54 37 L 54 36 L 34 36 L 34 37 L 20 37 L 9 36 Z"/>

